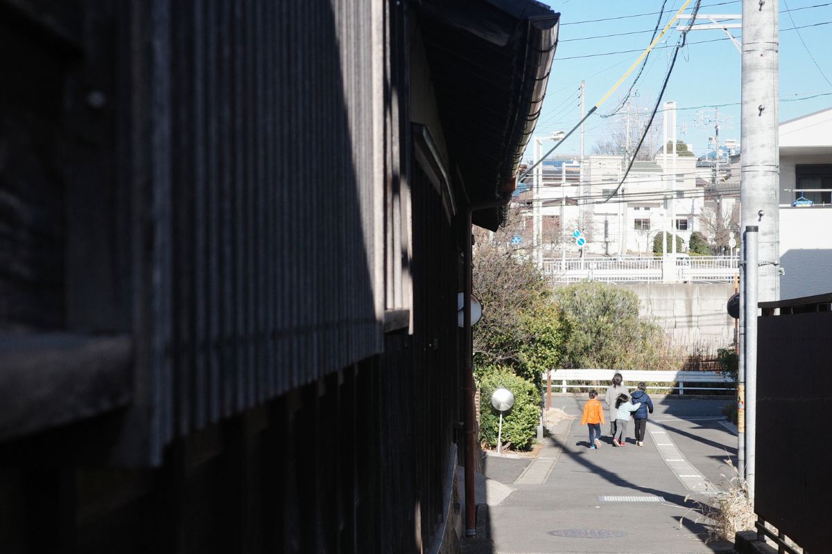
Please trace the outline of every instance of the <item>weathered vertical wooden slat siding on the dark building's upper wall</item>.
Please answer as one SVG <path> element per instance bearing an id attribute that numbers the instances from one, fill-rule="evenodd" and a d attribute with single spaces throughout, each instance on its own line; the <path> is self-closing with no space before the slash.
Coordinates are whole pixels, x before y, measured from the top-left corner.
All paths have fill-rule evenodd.
<path id="1" fill-rule="evenodd" d="M 369 0 L 133 4 L 157 460 L 382 349 L 373 17 Z"/>

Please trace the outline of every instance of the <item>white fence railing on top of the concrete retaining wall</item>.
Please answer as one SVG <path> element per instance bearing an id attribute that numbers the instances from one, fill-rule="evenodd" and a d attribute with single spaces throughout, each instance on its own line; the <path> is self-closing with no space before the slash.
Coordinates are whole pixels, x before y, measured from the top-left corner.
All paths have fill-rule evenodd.
<path id="1" fill-rule="evenodd" d="M 553 282 L 692 282 L 731 281 L 737 256 L 668 255 L 544 259 L 543 274 Z"/>

